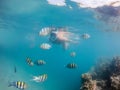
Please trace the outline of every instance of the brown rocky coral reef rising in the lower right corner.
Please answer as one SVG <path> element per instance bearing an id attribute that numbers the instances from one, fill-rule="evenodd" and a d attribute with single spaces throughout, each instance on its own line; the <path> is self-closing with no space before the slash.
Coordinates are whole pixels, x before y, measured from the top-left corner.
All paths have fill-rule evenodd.
<path id="1" fill-rule="evenodd" d="M 120 90 L 120 57 L 100 61 L 81 81 L 80 90 Z"/>

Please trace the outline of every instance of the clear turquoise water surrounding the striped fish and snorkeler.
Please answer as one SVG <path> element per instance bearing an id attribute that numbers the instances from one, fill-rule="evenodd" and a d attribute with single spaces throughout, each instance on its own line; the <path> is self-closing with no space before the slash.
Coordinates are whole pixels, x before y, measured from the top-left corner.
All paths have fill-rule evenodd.
<path id="1" fill-rule="evenodd" d="M 1 1 L 0 8 L 0 89 L 17 90 L 8 87 L 8 81 L 25 81 L 26 90 L 79 90 L 80 76 L 87 72 L 100 57 L 120 55 L 120 33 L 105 32 L 110 29 L 103 21 L 95 18 L 90 9 L 57 7 L 44 0 Z M 24 3 L 23 3 L 24 2 Z M 60 45 L 52 45 L 50 50 L 40 49 L 40 44 L 48 42 L 40 37 L 44 27 L 72 27 L 76 34 L 89 33 L 91 38 L 80 39 L 79 44 L 71 44 L 67 50 Z M 70 52 L 75 51 L 76 57 Z M 31 67 L 26 57 L 33 61 L 44 59 L 46 65 Z M 66 64 L 75 62 L 77 69 L 68 69 Z M 14 66 L 17 72 L 14 73 Z M 48 74 L 43 83 L 31 81 L 32 76 Z"/>

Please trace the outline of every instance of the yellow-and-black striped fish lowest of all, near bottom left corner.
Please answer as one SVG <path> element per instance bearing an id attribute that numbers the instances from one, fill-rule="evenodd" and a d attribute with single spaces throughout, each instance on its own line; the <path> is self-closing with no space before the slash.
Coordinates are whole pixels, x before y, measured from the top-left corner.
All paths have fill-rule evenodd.
<path id="1" fill-rule="evenodd" d="M 18 88 L 20 90 L 24 90 L 27 87 L 26 83 L 23 82 L 23 81 L 9 82 L 8 87 L 11 87 L 11 86 L 16 87 L 16 88 Z"/>

